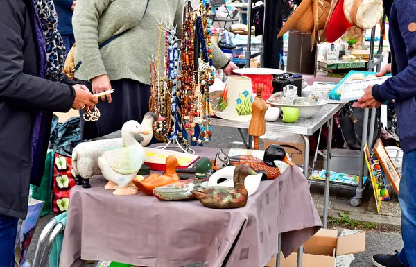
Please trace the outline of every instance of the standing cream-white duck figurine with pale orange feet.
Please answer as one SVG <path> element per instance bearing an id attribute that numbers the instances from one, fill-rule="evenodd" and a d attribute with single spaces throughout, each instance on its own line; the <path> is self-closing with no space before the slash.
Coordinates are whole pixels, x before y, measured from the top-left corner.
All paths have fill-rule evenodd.
<path id="1" fill-rule="evenodd" d="M 116 189 L 113 194 L 119 196 L 135 195 L 139 191 L 128 187 L 128 184 L 135 178 L 141 165 L 144 164 L 146 152 L 143 146 L 135 139 L 135 135 L 146 133 L 137 121 L 128 121 L 121 128 L 124 146 L 105 150 L 101 157 L 98 157 L 98 166 L 101 173 L 109 182 L 105 189 Z"/>

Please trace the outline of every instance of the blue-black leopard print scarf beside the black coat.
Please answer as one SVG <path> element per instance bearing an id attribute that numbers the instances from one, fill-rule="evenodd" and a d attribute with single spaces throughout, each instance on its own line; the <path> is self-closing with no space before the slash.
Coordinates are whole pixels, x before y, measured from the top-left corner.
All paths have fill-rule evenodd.
<path id="1" fill-rule="evenodd" d="M 37 15 L 46 42 L 46 79 L 60 82 L 64 78 L 65 46 L 56 28 L 58 15 L 53 0 L 35 0 Z"/>

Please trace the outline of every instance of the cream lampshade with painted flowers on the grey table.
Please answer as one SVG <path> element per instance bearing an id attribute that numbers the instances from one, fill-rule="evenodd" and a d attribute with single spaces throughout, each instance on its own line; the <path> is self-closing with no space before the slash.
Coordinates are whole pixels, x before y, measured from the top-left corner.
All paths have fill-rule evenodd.
<path id="1" fill-rule="evenodd" d="M 252 117 L 252 80 L 245 76 L 228 76 L 218 105 L 216 117 L 231 121 L 250 121 Z"/>

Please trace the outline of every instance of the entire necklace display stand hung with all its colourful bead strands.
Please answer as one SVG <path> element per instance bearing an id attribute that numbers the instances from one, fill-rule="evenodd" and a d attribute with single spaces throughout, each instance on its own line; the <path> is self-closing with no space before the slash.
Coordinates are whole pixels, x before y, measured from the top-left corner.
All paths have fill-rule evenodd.
<path id="1" fill-rule="evenodd" d="M 209 86 L 214 83 L 215 72 L 211 59 L 211 24 L 207 19 L 209 10 L 209 0 L 186 1 L 181 39 L 176 36 L 171 17 L 157 20 L 159 48 L 157 58 L 150 60 L 149 106 L 164 118 L 153 124 L 153 135 L 158 141 L 167 142 L 158 148 L 180 148 L 184 153 L 195 154 L 182 136 L 183 130 L 198 144 L 211 140 Z M 200 127 L 198 136 L 195 127 Z"/>

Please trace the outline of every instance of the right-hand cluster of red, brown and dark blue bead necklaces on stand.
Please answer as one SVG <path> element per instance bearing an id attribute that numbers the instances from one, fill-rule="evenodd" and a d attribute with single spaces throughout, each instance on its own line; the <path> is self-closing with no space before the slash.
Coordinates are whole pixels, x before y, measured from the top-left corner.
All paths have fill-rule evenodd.
<path id="1" fill-rule="evenodd" d="M 208 0 L 200 1 L 200 10 L 190 12 L 184 8 L 184 24 L 182 27 L 182 106 L 186 107 L 183 121 L 187 132 L 198 144 L 202 140 L 211 140 L 211 105 L 209 104 L 209 86 L 214 83 L 215 74 L 212 69 L 211 26 L 207 14 L 211 10 Z M 197 15 L 198 14 L 198 15 Z M 196 34 L 196 36 L 195 36 Z M 195 54 L 194 40 L 197 37 L 199 53 Z M 198 57 L 198 69 L 195 71 L 193 57 Z M 194 74 L 196 73 L 196 74 Z M 194 128 L 198 123 L 202 126 L 200 136 L 194 136 Z"/>

